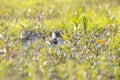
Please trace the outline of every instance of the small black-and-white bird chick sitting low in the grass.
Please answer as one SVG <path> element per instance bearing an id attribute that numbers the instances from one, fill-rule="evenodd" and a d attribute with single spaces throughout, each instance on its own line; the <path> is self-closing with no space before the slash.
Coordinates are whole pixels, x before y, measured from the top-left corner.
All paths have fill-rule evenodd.
<path id="1" fill-rule="evenodd" d="M 54 31 L 50 34 L 50 37 L 46 40 L 45 43 L 48 43 L 52 47 L 56 47 L 58 45 L 63 45 L 64 40 L 59 31 Z"/>

